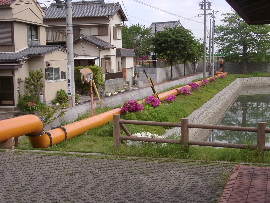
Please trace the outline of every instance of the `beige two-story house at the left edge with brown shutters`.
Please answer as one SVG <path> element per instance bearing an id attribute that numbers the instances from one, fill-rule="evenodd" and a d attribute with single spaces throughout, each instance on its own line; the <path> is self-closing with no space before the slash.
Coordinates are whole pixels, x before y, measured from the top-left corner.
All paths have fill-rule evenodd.
<path id="1" fill-rule="evenodd" d="M 15 107 L 19 94 L 27 94 L 29 69 L 40 68 L 47 73 L 43 102 L 51 103 L 57 90 L 67 90 L 66 50 L 46 45 L 45 13 L 36 0 L 0 0 L 0 12 L 0 107 Z"/>

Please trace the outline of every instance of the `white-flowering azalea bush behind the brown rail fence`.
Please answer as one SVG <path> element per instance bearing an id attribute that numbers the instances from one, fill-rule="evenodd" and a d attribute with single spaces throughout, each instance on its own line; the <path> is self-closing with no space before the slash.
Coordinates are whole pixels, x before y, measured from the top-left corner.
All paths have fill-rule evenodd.
<path id="1" fill-rule="evenodd" d="M 157 135 L 157 134 L 154 134 L 153 135 L 150 132 L 135 133 L 135 134 L 132 134 L 132 136 L 135 136 L 135 137 L 163 138 L 163 139 L 165 138 L 163 135 L 161 135 L 161 136 L 160 135 Z M 128 146 L 134 145 L 134 146 L 141 147 L 144 144 L 151 145 L 151 146 L 166 146 L 167 145 L 166 143 L 142 142 L 142 141 L 127 140 L 127 145 Z"/>

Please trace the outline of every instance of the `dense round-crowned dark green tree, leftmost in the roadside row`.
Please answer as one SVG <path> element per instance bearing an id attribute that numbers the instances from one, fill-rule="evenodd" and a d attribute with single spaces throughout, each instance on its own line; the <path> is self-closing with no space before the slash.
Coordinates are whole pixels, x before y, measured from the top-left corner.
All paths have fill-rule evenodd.
<path id="1" fill-rule="evenodd" d="M 164 31 L 156 32 L 152 38 L 153 50 L 159 58 L 166 59 L 171 65 L 171 80 L 173 79 L 173 63 L 185 60 L 185 54 L 193 43 L 193 36 L 183 27 L 166 27 Z M 189 59 L 187 59 L 189 60 Z"/>

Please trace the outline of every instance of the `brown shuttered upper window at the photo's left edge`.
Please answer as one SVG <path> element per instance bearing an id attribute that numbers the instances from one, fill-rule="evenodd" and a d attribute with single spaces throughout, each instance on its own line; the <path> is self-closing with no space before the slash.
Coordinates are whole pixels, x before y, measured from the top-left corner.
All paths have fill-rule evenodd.
<path id="1" fill-rule="evenodd" d="M 11 22 L 0 22 L 0 45 L 13 45 Z"/>

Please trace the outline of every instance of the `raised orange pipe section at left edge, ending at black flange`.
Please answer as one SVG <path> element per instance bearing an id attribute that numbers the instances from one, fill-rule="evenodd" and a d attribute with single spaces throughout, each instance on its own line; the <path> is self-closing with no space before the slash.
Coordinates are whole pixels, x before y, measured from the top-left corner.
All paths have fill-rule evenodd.
<path id="1" fill-rule="evenodd" d="M 38 135 L 44 132 L 44 122 L 41 117 L 24 115 L 0 121 L 0 142 L 22 135 Z"/>

